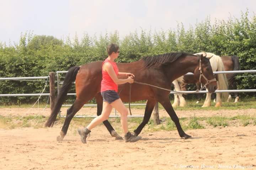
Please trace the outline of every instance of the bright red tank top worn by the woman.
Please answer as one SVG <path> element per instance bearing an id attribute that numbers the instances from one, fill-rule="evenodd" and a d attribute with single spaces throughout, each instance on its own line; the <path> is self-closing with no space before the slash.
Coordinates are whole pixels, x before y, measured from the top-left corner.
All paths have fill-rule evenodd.
<path id="1" fill-rule="evenodd" d="M 111 62 L 108 59 L 106 59 L 102 63 L 102 67 L 103 67 L 103 64 L 105 64 L 107 62 L 111 63 L 111 65 L 114 69 L 114 72 L 116 73 L 116 75 L 118 75 L 119 70 L 118 70 L 117 65 L 116 65 L 115 62 Z M 103 71 L 103 69 L 102 69 L 101 92 L 106 91 L 106 90 L 114 90 L 114 91 L 117 92 L 117 84 L 114 83 L 114 81 L 112 80 L 110 75 L 106 71 Z"/>

